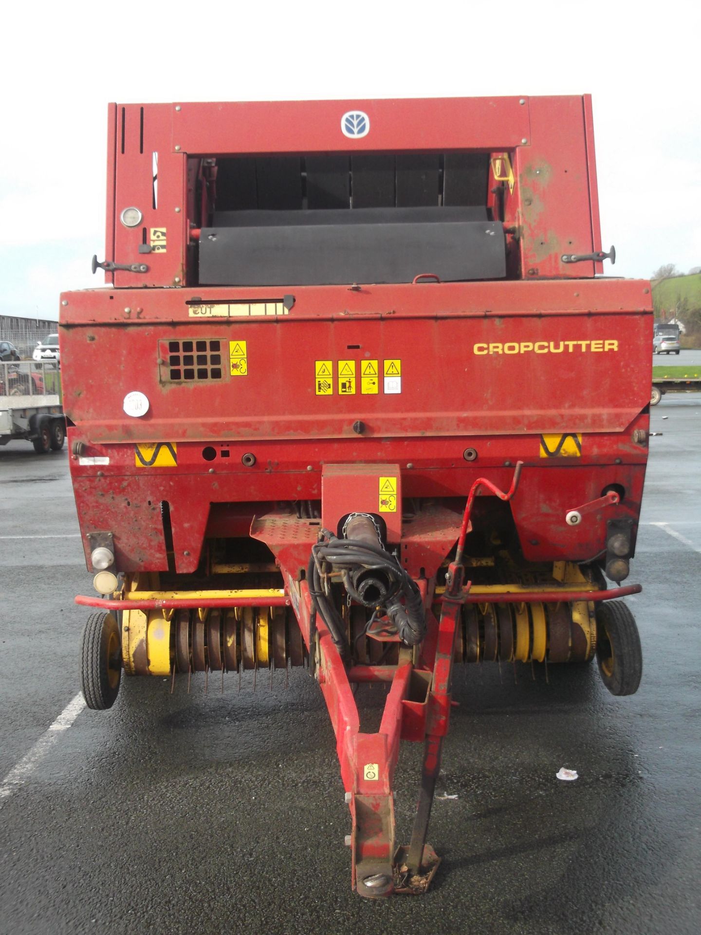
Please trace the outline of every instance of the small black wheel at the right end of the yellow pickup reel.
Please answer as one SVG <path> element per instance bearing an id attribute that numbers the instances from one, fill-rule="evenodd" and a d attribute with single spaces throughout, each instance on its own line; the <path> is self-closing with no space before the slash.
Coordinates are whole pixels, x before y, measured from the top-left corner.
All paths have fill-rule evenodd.
<path id="1" fill-rule="evenodd" d="M 642 676 L 636 618 L 621 600 L 596 609 L 596 662 L 611 695 L 635 695 Z"/>

